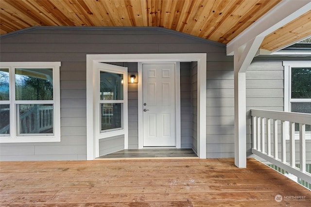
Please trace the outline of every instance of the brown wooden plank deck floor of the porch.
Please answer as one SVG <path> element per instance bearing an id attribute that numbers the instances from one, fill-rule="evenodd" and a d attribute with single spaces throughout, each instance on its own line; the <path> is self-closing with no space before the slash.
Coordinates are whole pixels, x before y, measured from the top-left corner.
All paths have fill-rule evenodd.
<path id="1" fill-rule="evenodd" d="M 311 205 L 311 191 L 252 158 L 246 169 L 233 159 L 0 162 L 0 193 L 1 207 Z"/>

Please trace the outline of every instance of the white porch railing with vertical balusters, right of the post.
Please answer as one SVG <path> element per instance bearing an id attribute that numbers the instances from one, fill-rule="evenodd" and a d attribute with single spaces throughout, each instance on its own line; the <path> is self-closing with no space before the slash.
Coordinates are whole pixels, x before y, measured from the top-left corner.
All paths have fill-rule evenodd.
<path id="1" fill-rule="evenodd" d="M 252 109 L 251 113 L 253 121 L 252 153 L 311 183 L 311 173 L 306 172 L 305 128 L 306 124 L 311 124 L 311 114 L 258 109 Z M 299 160 L 297 164 L 300 164 L 300 168 L 295 167 L 295 123 L 299 123 Z M 278 132 L 279 124 L 281 126 L 280 137 Z M 288 134 L 289 160 L 286 159 L 288 153 L 286 150 L 286 135 Z M 279 142 L 280 150 L 278 149 Z M 278 157 L 279 152 L 280 158 Z"/>

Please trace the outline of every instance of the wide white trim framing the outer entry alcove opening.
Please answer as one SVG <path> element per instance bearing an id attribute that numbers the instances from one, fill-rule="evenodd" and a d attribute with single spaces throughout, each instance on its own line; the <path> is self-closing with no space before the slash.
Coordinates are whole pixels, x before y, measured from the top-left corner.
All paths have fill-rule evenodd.
<path id="1" fill-rule="evenodd" d="M 86 149 L 87 160 L 95 157 L 93 135 L 93 62 L 192 62 L 198 63 L 198 156 L 206 158 L 206 53 L 172 53 L 172 54 L 87 54 L 86 55 Z M 138 71 L 139 72 L 139 71 Z M 138 90 L 142 83 L 138 75 Z M 139 103 L 139 97 L 138 97 Z M 138 104 L 138 111 L 139 111 Z M 139 125 L 139 123 L 138 123 Z M 138 131 L 138 134 L 141 133 Z"/>

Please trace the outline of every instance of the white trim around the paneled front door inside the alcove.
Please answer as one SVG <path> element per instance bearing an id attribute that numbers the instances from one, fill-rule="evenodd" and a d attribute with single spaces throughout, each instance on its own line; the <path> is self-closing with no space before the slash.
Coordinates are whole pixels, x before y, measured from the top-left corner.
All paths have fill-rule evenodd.
<path id="1" fill-rule="evenodd" d="M 174 110 L 174 122 L 175 122 L 175 129 L 174 129 L 174 136 L 175 136 L 175 144 L 173 147 L 181 148 L 181 126 L 180 126 L 180 62 L 138 62 L 138 79 L 140 77 L 140 81 L 138 80 L 138 149 L 142 149 L 146 147 L 146 144 L 143 143 L 144 135 L 144 120 L 143 120 L 143 65 L 144 64 L 173 64 L 174 65 L 174 72 L 175 72 L 175 99 Z M 148 108 L 148 106 L 146 106 Z M 148 147 L 148 146 L 147 146 Z M 168 146 L 169 147 L 169 146 Z"/>

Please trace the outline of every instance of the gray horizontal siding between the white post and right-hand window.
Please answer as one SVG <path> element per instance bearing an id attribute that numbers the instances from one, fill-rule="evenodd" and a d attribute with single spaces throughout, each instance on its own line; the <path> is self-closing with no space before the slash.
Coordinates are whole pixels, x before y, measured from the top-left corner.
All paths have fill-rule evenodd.
<path id="1" fill-rule="evenodd" d="M 246 139 L 252 144 L 252 108 L 284 109 L 284 71 L 282 61 L 253 61 L 246 71 Z M 250 155 L 250 148 L 247 148 Z"/>

